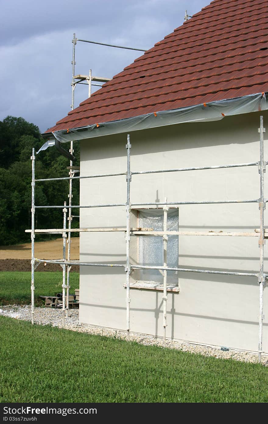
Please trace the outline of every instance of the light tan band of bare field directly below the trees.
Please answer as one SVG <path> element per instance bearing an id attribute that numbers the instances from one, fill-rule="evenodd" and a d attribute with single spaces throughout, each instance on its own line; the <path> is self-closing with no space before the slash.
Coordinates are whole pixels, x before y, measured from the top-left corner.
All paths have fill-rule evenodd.
<path id="1" fill-rule="evenodd" d="M 39 259 L 62 258 L 62 238 L 34 243 L 35 257 Z M 0 259 L 31 259 L 31 243 L 0 246 Z M 72 238 L 71 259 L 79 259 L 79 237 Z"/>

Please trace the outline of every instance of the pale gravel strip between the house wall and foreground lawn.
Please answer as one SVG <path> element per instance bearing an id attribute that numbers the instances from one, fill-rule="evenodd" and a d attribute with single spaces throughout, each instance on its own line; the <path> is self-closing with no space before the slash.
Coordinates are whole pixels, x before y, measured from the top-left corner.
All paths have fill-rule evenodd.
<path id="1" fill-rule="evenodd" d="M 10 318 L 31 321 L 31 308 L 30 305 L 7 305 L 2 306 L 0 309 L 0 315 L 4 315 Z M 52 325 L 55 327 L 62 327 L 62 310 L 61 309 L 52 309 L 37 307 L 35 308 L 35 323 L 40 325 Z M 66 329 L 95 334 L 103 335 L 108 337 L 116 337 L 120 339 L 126 339 L 126 332 L 120 330 L 113 330 L 108 328 L 102 328 L 97 326 L 91 326 L 88 324 L 79 324 L 79 310 L 71 309 L 69 310 L 69 317 L 65 318 L 65 327 Z M 184 352 L 198 353 L 204 356 L 213 356 L 215 358 L 232 358 L 237 361 L 243 362 L 258 362 L 257 354 L 253 354 L 246 351 L 238 351 L 235 349 L 230 349 L 229 351 L 222 351 L 220 348 L 215 348 L 212 346 L 203 346 L 197 345 L 194 343 L 188 343 L 177 340 L 166 340 L 163 341 L 162 338 L 156 338 L 150 335 L 143 335 L 137 333 L 130 334 L 130 340 L 141 343 L 145 346 L 161 346 L 167 347 L 170 349 L 178 349 Z M 262 365 L 268 366 L 268 355 L 262 354 Z"/>

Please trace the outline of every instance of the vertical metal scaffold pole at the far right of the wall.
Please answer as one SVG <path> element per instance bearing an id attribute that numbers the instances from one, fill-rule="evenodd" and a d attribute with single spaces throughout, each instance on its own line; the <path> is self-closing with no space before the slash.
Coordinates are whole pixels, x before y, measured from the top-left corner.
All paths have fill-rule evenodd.
<path id="1" fill-rule="evenodd" d="M 259 162 L 259 173 L 260 173 L 260 274 L 258 278 L 259 287 L 260 287 L 260 310 L 259 310 L 259 363 L 262 359 L 262 323 L 263 323 L 263 288 L 265 282 L 265 275 L 263 273 L 263 259 L 264 259 L 264 210 L 265 210 L 265 198 L 264 198 L 264 173 L 266 162 L 264 162 L 264 148 L 263 148 L 263 133 L 265 133 L 265 128 L 263 128 L 263 116 L 260 117 L 260 162 Z"/>

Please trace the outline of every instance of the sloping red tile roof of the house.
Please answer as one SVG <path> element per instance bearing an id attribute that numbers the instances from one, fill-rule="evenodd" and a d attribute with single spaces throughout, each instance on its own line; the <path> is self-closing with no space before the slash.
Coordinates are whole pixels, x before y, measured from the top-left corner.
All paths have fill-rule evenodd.
<path id="1" fill-rule="evenodd" d="M 214 0 L 47 133 L 268 91 L 268 1 Z"/>

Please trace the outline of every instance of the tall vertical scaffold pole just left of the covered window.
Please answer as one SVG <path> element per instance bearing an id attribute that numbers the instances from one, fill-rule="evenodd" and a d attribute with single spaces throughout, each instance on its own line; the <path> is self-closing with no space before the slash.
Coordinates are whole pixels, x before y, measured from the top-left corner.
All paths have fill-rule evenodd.
<path id="1" fill-rule="evenodd" d="M 126 231 L 126 286 L 127 286 L 127 340 L 130 337 L 130 182 L 131 182 L 131 172 L 130 172 L 130 134 L 127 134 L 127 203 L 126 203 L 126 211 L 127 211 L 127 231 Z"/>

